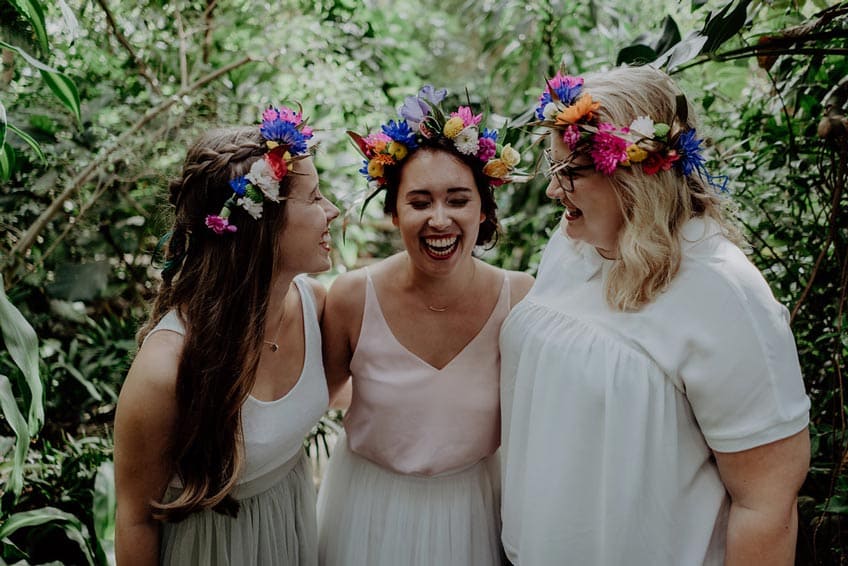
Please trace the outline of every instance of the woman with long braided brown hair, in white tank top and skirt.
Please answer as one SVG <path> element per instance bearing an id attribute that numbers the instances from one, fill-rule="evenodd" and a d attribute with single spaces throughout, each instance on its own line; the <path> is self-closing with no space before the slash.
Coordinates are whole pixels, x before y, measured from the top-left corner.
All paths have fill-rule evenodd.
<path id="1" fill-rule="evenodd" d="M 328 406 L 325 199 L 301 113 L 210 131 L 115 422 L 118 564 L 317 564 L 304 436 Z"/>

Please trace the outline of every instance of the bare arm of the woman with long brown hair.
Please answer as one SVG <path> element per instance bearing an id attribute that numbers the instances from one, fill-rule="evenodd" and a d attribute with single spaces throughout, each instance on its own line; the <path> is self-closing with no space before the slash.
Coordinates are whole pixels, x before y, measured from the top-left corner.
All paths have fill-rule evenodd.
<path id="1" fill-rule="evenodd" d="M 172 466 L 168 445 L 177 416 L 175 384 L 182 337 L 153 334 L 136 356 L 115 415 L 115 521 L 119 566 L 159 563 L 159 522 L 150 502 L 161 499 Z"/>

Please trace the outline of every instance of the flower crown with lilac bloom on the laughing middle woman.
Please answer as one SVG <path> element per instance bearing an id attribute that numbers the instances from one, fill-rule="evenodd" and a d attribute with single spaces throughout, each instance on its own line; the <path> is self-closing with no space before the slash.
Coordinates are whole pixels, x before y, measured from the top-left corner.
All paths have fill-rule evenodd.
<path id="1" fill-rule="evenodd" d="M 398 165 L 425 140 L 438 137 L 450 140 L 457 153 L 479 159 L 491 186 L 513 180 L 512 174 L 521 161 L 518 151 L 510 144 L 498 144 L 497 130 L 481 129 L 483 114 L 475 115 L 469 106 L 460 106 L 446 115 L 440 106 L 445 96 L 446 89 L 425 85 L 418 96 L 406 97 L 398 111 L 400 120 L 389 120 L 380 131 L 365 137 L 347 132 L 365 157 L 359 172 L 375 190 L 367 200 L 385 187 L 387 168 Z"/>

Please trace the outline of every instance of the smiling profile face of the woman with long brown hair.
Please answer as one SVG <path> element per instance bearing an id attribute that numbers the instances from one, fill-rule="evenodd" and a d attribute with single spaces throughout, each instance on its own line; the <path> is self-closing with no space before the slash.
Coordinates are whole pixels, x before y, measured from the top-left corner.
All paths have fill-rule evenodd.
<path id="1" fill-rule="evenodd" d="M 328 226 L 339 209 L 321 194 L 312 159 L 295 161 L 288 175 L 286 217 L 279 240 L 282 269 L 292 273 L 326 271 L 330 268 Z"/>

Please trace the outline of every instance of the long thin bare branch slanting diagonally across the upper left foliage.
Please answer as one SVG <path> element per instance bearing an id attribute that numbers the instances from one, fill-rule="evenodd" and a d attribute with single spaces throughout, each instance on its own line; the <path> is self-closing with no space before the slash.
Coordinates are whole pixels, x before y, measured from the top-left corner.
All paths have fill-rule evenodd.
<path id="1" fill-rule="evenodd" d="M 125 146 L 125 142 L 134 136 L 139 130 L 141 130 L 145 125 L 147 125 L 151 120 L 171 108 L 173 105 L 177 103 L 183 103 L 184 97 L 192 92 L 200 89 L 206 84 L 214 81 L 220 76 L 229 73 L 233 69 L 241 67 L 251 61 L 255 61 L 251 57 L 245 57 L 239 61 L 234 63 L 230 63 L 226 67 L 221 67 L 220 69 L 215 70 L 208 75 L 201 77 L 194 83 L 186 86 L 185 88 L 180 89 L 179 92 L 174 94 L 167 100 L 164 100 L 158 106 L 151 108 L 144 116 L 142 116 L 135 124 L 133 124 L 129 129 L 124 131 L 123 134 L 118 136 L 113 142 L 112 145 L 104 149 L 100 152 L 94 160 L 89 163 L 85 169 L 83 169 L 76 177 L 71 179 L 70 183 L 65 187 L 65 189 L 57 196 L 53 202 L 50 203 L 44 212 L 39 215 L 39 217 L 32 223 L 32 225 L 27 229 L 26 232 L 21 236 L 21 239 L 15 243 L 15 245 L 10 250 L 10 253 L 5 259 L 5 266 L 8 267 L 12 265 L 14 259 L 16 257 L 22 256 L 26 254 L 26 252 L 32 247 L 35 242 L 36 237 L 41 233 L 42 230 L 47 226 L 50 220 L 62 209 L 62 205 L 72 194 L 74 194 L 82 185 L 91 179 L 94 173 L 103 165 L 105 165 L 109 157 L 115 153 L 118 149 L 121 149 Z M 190 103 L 186 104 L 187 106 Z M 11 280 L 11 277 L 9 277 Z"/>

